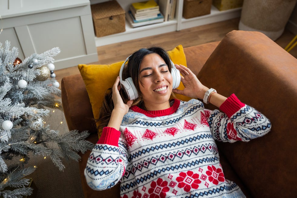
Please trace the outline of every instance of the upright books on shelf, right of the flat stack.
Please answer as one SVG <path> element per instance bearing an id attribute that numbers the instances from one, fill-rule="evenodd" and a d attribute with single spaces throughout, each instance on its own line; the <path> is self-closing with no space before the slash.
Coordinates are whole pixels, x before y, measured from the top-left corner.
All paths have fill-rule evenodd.
<path id="1" fill-rule="evenodd" d="M 164 15 L 164 21 L 174 19 L 177 0 L 159 0 L 160 11 Z"/>

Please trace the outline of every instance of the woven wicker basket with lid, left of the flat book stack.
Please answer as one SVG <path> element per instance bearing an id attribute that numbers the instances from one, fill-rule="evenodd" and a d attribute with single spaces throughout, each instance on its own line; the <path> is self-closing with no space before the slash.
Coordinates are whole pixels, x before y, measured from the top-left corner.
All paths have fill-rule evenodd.
<path id="1" fill-rule="evenodd" d="M 91 5 L 95 35 L 102 37 L 125 31 L 125 11 L 117 1 Z"/>

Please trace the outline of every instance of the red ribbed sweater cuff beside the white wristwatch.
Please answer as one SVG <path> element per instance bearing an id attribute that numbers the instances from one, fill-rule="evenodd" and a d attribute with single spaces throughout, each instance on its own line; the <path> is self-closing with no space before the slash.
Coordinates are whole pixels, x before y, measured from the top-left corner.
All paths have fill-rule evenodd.
<path id="1" fill-rule="evenodd" d="M 228 117 L 232 117 L 240 108 L 244 107 L 245 104 L 242 103 L 235 94 L 232 94 L 227 98 L 225 102 L 220 106 L 220 110 L 227 114 Z"/>

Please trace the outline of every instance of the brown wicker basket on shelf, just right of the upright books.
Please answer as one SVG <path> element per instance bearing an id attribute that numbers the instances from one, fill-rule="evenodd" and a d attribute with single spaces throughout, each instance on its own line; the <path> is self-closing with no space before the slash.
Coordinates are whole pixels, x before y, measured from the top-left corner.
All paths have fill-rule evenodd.
<path id="1" fill-rule="evenodd" d="M 193 18 L 210 14 L 212 0 L 184 0 L 182 16 Z"/>

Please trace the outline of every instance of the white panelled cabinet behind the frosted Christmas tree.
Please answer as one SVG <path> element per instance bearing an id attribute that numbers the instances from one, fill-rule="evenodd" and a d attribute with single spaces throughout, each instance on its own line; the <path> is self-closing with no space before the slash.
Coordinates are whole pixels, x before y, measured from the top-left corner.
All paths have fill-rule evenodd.
<path id="1" fill-rule="evenodd" d="M 0 42 L 22 60 L 59 47 L 55 69 L 98 61 L 89 0 L 1 0 L 0 15 Z"/>

